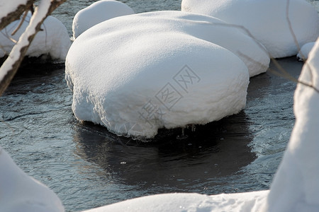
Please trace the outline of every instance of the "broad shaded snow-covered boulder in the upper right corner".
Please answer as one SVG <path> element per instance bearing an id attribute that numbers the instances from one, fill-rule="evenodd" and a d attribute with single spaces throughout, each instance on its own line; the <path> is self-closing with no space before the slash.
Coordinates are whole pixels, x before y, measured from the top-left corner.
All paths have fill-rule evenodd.
<path id="1" fill-rule="evenodd" d="M 314 42 L 319 36 L 318 13 L 305 0 L 183 0 L 181 10 L 206 14 L 242 25 L 252 33 L 274 58 L 298 53 L 286 16 L 299 46 Z"/>

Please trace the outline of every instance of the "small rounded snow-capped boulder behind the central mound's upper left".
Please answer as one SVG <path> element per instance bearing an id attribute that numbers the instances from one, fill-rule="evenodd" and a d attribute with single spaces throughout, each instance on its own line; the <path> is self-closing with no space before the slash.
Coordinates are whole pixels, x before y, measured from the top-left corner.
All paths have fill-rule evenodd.
<path id="1" fill-rule="evenodd" d="M 75 14 L 72 24 L 73 38 L 79 37 L 85 30 L 104 20 L 133 13 L 132 8 L 120 1 L 96 1 Z"/>

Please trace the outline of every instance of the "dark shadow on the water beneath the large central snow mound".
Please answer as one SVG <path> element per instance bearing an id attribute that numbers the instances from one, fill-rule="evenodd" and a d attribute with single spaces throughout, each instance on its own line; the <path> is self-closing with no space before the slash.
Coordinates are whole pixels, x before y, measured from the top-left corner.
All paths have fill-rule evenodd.
<path id="1" fill-rule="evenodd" d="M 234 175 L 256 156 L 245 112 L 186 130 L 162 130 L 150 143 L 106 133 L 101 126 L 85 123 L 74 134 L 75 153 L 95 163 L 113 179 L 136 189 L 167 192 L 205 192 L 203 182 Z M 152 193 L 152 192 L 151 192 Z M 155 192 L 156 193 L 156 192 Z"/>

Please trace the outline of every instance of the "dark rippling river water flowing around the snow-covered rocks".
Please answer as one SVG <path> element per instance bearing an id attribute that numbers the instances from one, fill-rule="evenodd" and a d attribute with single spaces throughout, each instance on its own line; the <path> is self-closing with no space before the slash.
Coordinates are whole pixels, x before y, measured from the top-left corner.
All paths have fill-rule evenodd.
<path id="1" fill-rule="evenodd" d="M 92 2 L 67 1 L 55 12 L 70 35 L 72 17 Z M 179 10 L 181 4 L 123 2 L 135 12 Z M 295 57 L 278 61 L 298 78 L 303 63 Z M 176 139 L 181 129 L 175 129 L 141 143 L 74 118 L 63 64 L 26 64 L 0 98 L 0 145 L 28 175 L 47 184 L 67 211 L 148 194 L 269 189 L 293 128 L 295 88 L 268 71 L 250 79 L 247 106 L 239 114 L 197 126 L 196 132 L 186 129 L 188 139 Z"/>

